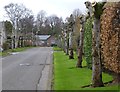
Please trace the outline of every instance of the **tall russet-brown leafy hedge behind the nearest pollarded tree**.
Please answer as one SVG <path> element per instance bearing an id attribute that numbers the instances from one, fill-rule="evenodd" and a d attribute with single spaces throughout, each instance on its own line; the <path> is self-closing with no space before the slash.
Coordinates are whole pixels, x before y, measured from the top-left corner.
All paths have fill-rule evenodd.
<path id="1" fill-rule="evenodd" d="M 105 69 L 120 74 L 120 2 L 108 2 L 104 8 L 100 35 L 102 64 Z"/>

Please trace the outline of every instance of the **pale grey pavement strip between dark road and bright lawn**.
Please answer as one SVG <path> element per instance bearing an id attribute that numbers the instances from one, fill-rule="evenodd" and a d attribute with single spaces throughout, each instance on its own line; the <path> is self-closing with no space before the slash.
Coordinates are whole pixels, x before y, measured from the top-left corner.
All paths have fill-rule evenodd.
<path id="1" fill-rule="evenodd" d="M 52 82 L 52 60 L 53 60 L 53 52 L 48 55 L 46 59 L 45 66 L 42 70 L 42 76 L 38 82 L 37 90 L 51 90 L 51 82 Z"/>

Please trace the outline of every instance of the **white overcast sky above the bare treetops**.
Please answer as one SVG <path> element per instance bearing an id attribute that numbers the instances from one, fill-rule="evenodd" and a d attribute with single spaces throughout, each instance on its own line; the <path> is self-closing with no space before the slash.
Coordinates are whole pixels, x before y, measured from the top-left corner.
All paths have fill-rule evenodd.
<path id="1" fill-rule="evenodd" d="M 65 19 L 70 16 L 74 9 L 79 8 L 81 12 L 85 13 L 85 1 L 88 0 L 0 0 L 0 21 L 6 20 L 4 6 L 9 3 L 23 4 L 32 10 L 34 15 L 37 15 L 40 10 L 44 10 L 48 16 L 56 14 Z"/>

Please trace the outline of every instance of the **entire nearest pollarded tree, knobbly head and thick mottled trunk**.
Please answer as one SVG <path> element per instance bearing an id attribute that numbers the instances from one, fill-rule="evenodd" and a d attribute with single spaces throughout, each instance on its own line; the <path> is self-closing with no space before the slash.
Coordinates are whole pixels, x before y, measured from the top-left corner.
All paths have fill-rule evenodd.
<path id="1" fill-rule="evenodd" d="M 85 2 L 85 5 L 89 10 L 89 15 L 94 19 L 92 31 L 92 86 L 99 87 L 103 86 L 100 55 L 100 16 L 104 2 Z"/>

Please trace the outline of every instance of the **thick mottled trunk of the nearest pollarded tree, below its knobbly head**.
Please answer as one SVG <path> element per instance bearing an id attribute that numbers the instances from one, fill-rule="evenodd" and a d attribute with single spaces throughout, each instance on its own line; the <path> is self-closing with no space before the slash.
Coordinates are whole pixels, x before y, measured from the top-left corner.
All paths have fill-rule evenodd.
<path id="1" fill-rule="evenodd" d="M 103 86 L 100 59 L 100 20 L 97 18 L 94 18 L 94 27 L 92 31 L 92 61 L 92 86 Z"/>

